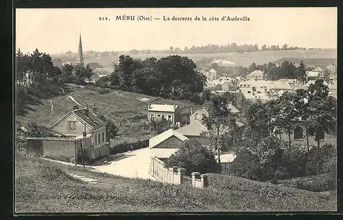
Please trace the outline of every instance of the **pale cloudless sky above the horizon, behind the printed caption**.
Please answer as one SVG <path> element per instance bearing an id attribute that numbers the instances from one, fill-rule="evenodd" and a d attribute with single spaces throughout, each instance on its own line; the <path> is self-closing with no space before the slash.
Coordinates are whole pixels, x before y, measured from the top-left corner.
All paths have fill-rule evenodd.
<path id="1" fill-rule="evenodd" d="M 16 9 L 16 50 L 76 52 L 80 33 L 84 51 L 183 49 L 233 42 L 336 49 L 337 14 L 337 8 Z M 116 21 L 122 15 L 135 20 Z M 99 20 L 99 16 L 110 21 Z M 139 16 L 151 21 L 137 21 Z M 193 21 L 163 21 L 163 16 L 191 17 Z M 195 16 L 204 16 L 206 21 L 194 21 Z M 223 16 L 247 16 L 250 21 L 222 21 Z M 209 21 L 211 17 L 220 21 Z"/>

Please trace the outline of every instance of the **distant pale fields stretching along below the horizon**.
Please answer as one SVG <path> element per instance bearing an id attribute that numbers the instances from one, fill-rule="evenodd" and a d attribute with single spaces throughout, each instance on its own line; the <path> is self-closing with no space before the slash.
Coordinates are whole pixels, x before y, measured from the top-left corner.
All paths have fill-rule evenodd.
<path id="1" fill-rule="evenodd" d="M 128 54 L 128 53 L 126 53 Z M 171 53 L 176 54 L 176 53 Z M 180 56 L 187 56 L 194 62 L 202 58 L 212 58 L 213 60 L 230 60 L 237 66 L 250 66 L 252 62 L 256 64 L 265 64 L 274 62 L 281 58 L 337 58 L 336 49 L 307 49 L 307 50 L 288 50 L 288 51 L 254 51 L 249 53 L 178 53 Z M 169 53 L 150 53 L 150 54 L 130 54 L 132 58 L 150 58 L 156 57 L 157 59 L 169 56 Z M 51 55 L 53 58 L 60 58 L 62 61 L 76 60 L 75 56 L 66 55 Z M 116 62 L 118 56 L 108 56 L 102 58 L 95 58 L 84 55 L 86 62 L 99 62 L 100 65 L 106 68 L 111 68 L 113 62 Z"/>

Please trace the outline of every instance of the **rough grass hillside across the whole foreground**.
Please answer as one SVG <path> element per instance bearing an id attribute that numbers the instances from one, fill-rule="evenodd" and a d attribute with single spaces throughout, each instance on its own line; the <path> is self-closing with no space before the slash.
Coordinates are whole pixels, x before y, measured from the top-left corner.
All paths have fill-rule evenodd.
<path id="1" fill-rule="evenodd" d="M 241 179 L 208 188 L 122 178 L 82 167 L 16 154 L 16 212 L 209 212 L 209 211 L 329 211 L 336 198 L 274 186 L 274 197 L 261 193 L 259 183 L 239 186 Z M 89 184 L 70 173 L 99 180 Z M 218 180 L 218 178 L 217 178 Z M 213 177 L 211 182 L 215 182 Z M 242 184 L 244 185 L 244 184 Z M 264 192 L 264 191 L 263 191 Z M 284 193 L 283 193 L 284 192 Z M 289 192 L 289 193 L 288 193 Z"/>

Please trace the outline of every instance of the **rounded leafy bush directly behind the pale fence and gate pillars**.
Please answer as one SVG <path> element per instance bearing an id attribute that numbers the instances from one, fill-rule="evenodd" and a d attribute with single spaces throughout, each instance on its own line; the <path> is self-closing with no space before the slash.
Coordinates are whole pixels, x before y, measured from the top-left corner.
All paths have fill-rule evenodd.
<path id="1" fill-rule="evenodd" d="M 168 167 L 183 167 L 187 174 L 192 172 L 217 173 L 217 162 L 213 151 L 202 146 L 198 140 L 185 140 L 180 149 L 167 159 Z"/>

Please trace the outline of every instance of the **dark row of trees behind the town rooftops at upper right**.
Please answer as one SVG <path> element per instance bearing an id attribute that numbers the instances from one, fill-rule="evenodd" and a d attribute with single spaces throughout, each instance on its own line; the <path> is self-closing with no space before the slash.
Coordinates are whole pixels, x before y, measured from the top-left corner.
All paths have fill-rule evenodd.
<path id="1" fill-rule="evenodd" d="M 284 61 L 280 66 L 276 66 L 274 62 L 263 65 L 254 62 L 248 68 L 239 67 L 238 75 L 246 77 L 246 75 L 256 70 L 263 71 L 265 80 L 298 79 L 300 82 L 306 80 L 306 66 L 303 61 L 300 62 L 298 67 L 288 61 Z"/>

